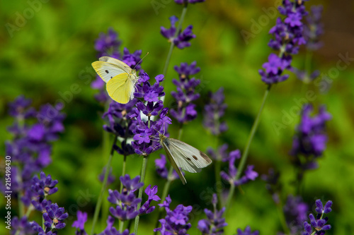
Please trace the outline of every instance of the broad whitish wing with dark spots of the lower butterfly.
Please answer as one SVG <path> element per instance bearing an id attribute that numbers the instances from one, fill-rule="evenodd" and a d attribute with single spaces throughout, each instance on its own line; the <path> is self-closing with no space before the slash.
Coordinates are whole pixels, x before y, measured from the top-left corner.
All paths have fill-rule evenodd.
<path id="1" fill-rule="evenodd" d="M 212 163 L 207 155 L 190 146 L 181 140 L 172 138 L 167 139 L 171 155 L 174 157 L 178 167 L 192 173 L 200 172 L 202 168 Z"/>

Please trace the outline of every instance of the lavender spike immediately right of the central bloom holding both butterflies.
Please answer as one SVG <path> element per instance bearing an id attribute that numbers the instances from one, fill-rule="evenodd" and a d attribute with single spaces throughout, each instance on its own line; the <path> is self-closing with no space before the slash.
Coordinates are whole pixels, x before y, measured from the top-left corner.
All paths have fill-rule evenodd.
<path id="1" fill-rule="evenodd" d="M 187 123 L 197 118 L 194 100 L 198 100 L 200 95 L 195 92 L 195 88 L 200 84 L 199 79 L 190 78 L 190 76 L 200 71 L 194 61 L 190 66 L 187 63 L 181 63 L 181 66 L 174 66 L 179 75 L 179 80 L 173 78 L 172 83 L 176 85 L 177 92 L 172 91 L 171 95 L 176 100 L 176 109 L 171 109 L 171 116 L 179 123 Z"/>

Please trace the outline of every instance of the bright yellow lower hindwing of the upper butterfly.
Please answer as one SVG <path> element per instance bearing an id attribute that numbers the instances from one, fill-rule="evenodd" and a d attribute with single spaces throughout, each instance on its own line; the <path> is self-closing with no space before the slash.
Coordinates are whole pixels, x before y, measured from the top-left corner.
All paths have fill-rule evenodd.
<path id="1" fill-rule="evenodd" d="M 120 104 L 127 104 L 134 91 L 135 80 L 128 73 L 120 73 L 108 80 L 106 85 L 108 95 Z"/>

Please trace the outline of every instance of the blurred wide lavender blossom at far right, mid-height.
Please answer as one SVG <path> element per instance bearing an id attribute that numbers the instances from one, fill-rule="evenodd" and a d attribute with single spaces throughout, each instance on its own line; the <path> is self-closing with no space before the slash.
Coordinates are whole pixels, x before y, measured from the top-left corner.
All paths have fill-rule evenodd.
<path id="1" fill-rule="evenodd" d="M 317 168 L 316 159 L 326 149 L 326 121 L 331 119 L 331 114 L 326 112 L 324 106 L 319 108 L 316 116 L 311 116 L 312 110 L 311 104 L 304 104 L 302 107 L 301 121 L 296 128 L 297 133 L 290 151 L 295 164 L 302 171 Z M 304 159 L 300 156 L 304 156 Z"/>

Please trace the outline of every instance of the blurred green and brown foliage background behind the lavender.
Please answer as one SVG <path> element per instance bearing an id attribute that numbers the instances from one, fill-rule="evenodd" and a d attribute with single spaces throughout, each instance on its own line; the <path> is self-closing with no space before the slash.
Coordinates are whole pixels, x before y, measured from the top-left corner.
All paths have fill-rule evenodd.
<path id="1" fill-rule="evenodd" d="M 12 33 L 4 25 L 16 25 L 18 13 L 23 16 L 23 11 L 32 6 L 29 1 L 0 2 L 3 25 L 0 29 L 0 136 L 3 143 L 0 145 L 0 155 L 4 155 L 4 141 L 11 139 L 6 131 L 6 126 L 13 121 L 7 114 L 8 102 L 18 95 L 25 95 L 33 100 L 35 107 L 54 104 L 62 99 L 60 93 L 69 92 L 74 84 L 79 85 L 80 91 L 72 94 L 72 99 L 64 103 L 64 112 L 67 114 L 65 132 L 54 143 L 52 164 L 45 169 L 46 174 L 59 180 L 59 192 L 52 195 L 52 201 L 65 207 L 70 215 L 67 227 L 59 234 L 74 234 L 71 227 L 76 214 L 74 208 L 79 205 L 83 193 L 89 193 L 92 197 L 87 203 L 80 204 L 79 208 L 92 217 L 101 188 L 98 174 L 108 159 L 108 152 L 102 144 L 103 107 L 93 98 L 96 90 L 91 88 L 87 80 L 80 79 L 83 74 L 89 80 L 95 78 L 91 68 L 91 63 L 96 60 L 94 42 L 100 32 L 107 32 L 112 27 L 119 33 L 122 48 L 127 47 L 130 52 L 142 49 L 142 54 L 149 52 L 142 63 L 144 71 L 151 77 L 162 73 L 169 44 L 160 35 L 159 29 L 161 25 L 169 28 L 169 16 L 179 17 L 182 8 L 174 1 L 157 1 L 163 5 L 157 11 L 151 1 L 40 1 L 41 5 L 37 6 L 38 11 L 33 17 Z M 258 69 L 271 52 L 267 47 L 270 39 L 268 30 L 274 25 L 275 18 L 270 18 L 269 23 L 261 26 L 259 32 L 247 41 L 241 36 L 241 30 L 251 32 L 251 20 L 258 21 L 265 14 L 262 8 L 274 8 L 276 4 L 268 0 L 207 0 L 203 4 L 188 6 L 183 28 L 192 24 L 197 37 L 191 41 L 191 47 L 173 51 L 164 83 L 166 104 L 169 104 L 169 93 L 174 89 L 171 79 L 178 76 L 172 67 L 181 62 L 189 64 L 197 61 L 201 68 L 196 76 L 202 79 L 201 97 L 197 102 L 199 116 L 184 127 L 183 141 L 202 151 L 207 147 L 215 147 L 215 138 L 202 126 L 202 109 L 207 92 L 224 87 L 228 105 L 224 120 L 229 131 L 221 136 L 220 143 L 228 143 L 229 150 L 243 150 L 265 90 Z M 307 2 L 307 8 L 313 4 L 324 5 L 325 34 L 321 37 L 324 47 L 314 52 L 312 66 L 328 73 L 331 68 L 336 68 L 339 54 L 354 58 L 354 2 L 311 0 Z M 319 169 L 304 176 L 303 197 L 310 207 L 317 198 L 333 200 L 333 212 L 329 214 L 333 229 L 328 234 L 354 234 L 353 63 L 350 61 L 348 68 L 340 71 L 325 91 L 320 91 L 316 85 L 304 88 L 293 74 L 284 83 L 274 85 L 249 153 L 249 164 L 255 164 L 256 171 L 266 174 L 270 167 L 280 170 L 285 194 L 293 193 L 291 182 L 295 171 L 288 152 L 299 117 L 292 116 L 290 124 L 280 131 L 275 131 L 273 123 L 281 123 L 284 112 L 289 113 L 297 105 L 294 99 L 304 97 L 307 90 L 316 92 L 314 106 L 326 104 L 333 119 L 329 121 L 329 143 L 324 157 L 319 159 Z M 294 65 L 303 67 L 303 51 L 295 56 Z M 176 126 L 172 126 L 171 136 L 176 137 Z M 158 153 L 162 153 L 162 150 Z M 145 182 L 146 185 L 158 185 L 161 195 L 164 181 L 154 171 L 154 159 L 158 153 L 149 156 Z M 113 174 L 117 177 L 120 176 L 121 160 L 118 154 L 113 159 Z M 127 173 L 131 176 L 139 174 L 141 162 L 142 158 L 137 155 L 129 157 Z M 200 174 L 187 173 L 186 179 L 186 186 L 179 181 L 172 183 L 172 205 L 195 205 L 190 234 L 200 234 L 196 229 L 198 219 L 205 218 L 202 208 L 210 208 L 208 200 L 215 191 L 214 166 L 204 169 Z M 110 186 L 115 187 L 118 184 Z M 108 204 L 104 206 L 108 207 Z M 0 211 L 3 215 L 4 207 L 1 206 Z M 13 210 L 15 214 L 16 210 Z M 141 234 L 152 234 L 156 216 L 153 213 L 141 217 Z M 248 183 L 242 187 L 242 191 L 236 191 L 227 222 L 229 225 L 225 234 L 234 234 L 236 228 L 244 229 L 246 225 L 251 225 L 261 234 L 281 231 L 276 207 L 261 179 Z M 86 225 L 89 231 L 91 219 Z M 98 224 L 96 231 L 104 227 L 105 218 Z M 0 231 L 1 234 L 8 232 L 3 225 Z"/>

